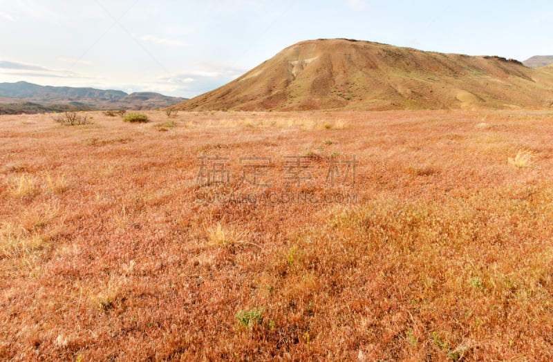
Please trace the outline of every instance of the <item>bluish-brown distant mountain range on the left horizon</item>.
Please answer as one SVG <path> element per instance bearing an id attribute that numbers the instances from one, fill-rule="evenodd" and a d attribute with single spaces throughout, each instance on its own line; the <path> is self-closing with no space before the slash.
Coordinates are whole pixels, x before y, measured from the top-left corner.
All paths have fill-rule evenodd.
<path id="1" fill-rule="evenodd" d="M 186 100 L 159 93 L 0 83 L 0 114 L 133 109 L 171 106 Z"/>

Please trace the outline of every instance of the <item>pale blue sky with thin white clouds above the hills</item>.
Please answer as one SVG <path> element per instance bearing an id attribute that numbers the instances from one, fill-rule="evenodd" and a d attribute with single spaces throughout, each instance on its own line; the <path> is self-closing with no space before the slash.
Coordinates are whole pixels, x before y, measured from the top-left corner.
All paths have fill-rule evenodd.
<path id="1" fill-rule="evenodd" d="M 553 2 L 0 0 L 0 83 L 194 97 L 299 41 L 348 38 L 525 60 Z"/>

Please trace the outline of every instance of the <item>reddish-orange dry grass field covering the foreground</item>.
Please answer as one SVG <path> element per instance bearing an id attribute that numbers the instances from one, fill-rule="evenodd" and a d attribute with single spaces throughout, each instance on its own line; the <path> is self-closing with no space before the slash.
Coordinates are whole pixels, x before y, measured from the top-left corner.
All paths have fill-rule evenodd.
<path id="1" fill-rule="evenodd" d="M 553 359 L 551 111 L 146 114 L 0 116 L 1 360 Z"/>

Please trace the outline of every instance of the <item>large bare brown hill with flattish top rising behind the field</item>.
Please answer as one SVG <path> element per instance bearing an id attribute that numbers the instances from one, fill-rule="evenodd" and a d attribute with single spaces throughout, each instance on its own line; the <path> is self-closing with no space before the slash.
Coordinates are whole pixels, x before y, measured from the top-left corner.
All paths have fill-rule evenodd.
<path id="1" fill-rule="evenodd" d="M 550 106 L 552 97 L 552 73 L 512 59 L 319 39 L 285 48 L 229 84 L 174 108 L 541 107 Z"/>

